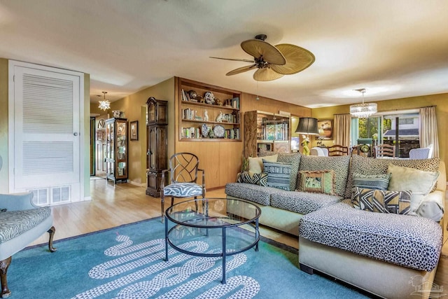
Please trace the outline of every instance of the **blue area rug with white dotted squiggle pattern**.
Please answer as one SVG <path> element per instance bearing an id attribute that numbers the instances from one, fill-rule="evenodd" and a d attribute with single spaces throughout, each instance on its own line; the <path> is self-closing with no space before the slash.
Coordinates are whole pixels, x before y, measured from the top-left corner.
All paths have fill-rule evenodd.
<path id="1" fill-rule="evenodd" d="M 10 298 L 365 298 L 300 271 L 297 249 L 259 245 L 228 257 L 221 284 L 221 258 L 170 249 L 165 261 L 165 226 L 153 218 L 57 241 L 55 253 L 46 244 L 20 251 L 8 270 Z"/>

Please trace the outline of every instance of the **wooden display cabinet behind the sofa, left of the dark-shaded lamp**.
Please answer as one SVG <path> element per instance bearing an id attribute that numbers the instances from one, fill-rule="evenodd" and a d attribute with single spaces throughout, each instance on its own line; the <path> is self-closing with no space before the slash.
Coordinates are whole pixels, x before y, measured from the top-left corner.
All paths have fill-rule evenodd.
<path id="1" fill-rule="evenodd" d="M 244 155 L 256 157 L 260 149 L 290 153 L 290 117 L 264 111 L 244 113 Z"/>

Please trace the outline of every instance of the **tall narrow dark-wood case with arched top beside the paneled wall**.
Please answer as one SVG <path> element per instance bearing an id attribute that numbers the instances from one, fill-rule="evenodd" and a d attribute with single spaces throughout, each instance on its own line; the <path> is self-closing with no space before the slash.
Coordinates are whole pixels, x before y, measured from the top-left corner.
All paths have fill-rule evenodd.
<path id="1" fill-rule="evenodd" d="M 147 188 L 146 194 L 160 197 L 162 170 L 167 169 L 168 153 L 168 102 L 150 97 L 148 102 L 147 144 Z"/>

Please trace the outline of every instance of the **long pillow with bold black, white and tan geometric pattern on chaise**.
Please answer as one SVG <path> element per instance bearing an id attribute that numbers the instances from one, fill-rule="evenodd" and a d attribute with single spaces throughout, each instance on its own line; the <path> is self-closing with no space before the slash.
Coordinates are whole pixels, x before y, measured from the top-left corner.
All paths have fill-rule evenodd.
<path id="1" fill-rule="evenodd" d="M 365 211 L 407 215 L 410 211 L 412 191 L 389 191 L 353 188 L 353 207 Z"/>

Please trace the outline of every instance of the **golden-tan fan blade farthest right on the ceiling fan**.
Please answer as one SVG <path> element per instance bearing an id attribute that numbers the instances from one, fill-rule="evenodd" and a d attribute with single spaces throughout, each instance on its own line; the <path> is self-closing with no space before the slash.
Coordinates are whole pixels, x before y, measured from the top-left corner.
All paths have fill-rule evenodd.
<path id="1" fill-rule="evenodd" d="M 276 45 L 276 48 L 286 58 L 286 64 L 271 65 L 272 69 L 279 74 L 291 75 L 303 71 L 313 64 L 316 59 L 309 50 L 289 43 L 281 43 L 280 45 Z"/>

